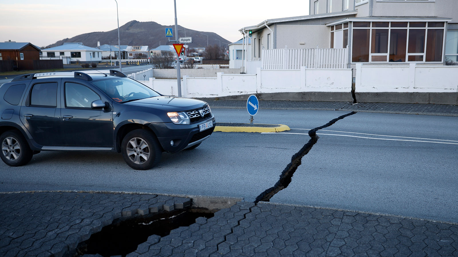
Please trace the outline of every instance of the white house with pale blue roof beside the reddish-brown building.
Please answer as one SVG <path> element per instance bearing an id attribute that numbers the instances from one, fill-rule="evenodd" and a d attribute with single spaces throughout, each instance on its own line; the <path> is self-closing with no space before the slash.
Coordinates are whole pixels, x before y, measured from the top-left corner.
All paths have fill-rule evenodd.
<path id="1" fill-rule="evenodd" d="M 64 43 L 63 45 L 41 50 L 49 58 L 70 59 L 71 63 L 99 63 L 102 61 L 102 50 L 83 45 L 82 43 Z"/>

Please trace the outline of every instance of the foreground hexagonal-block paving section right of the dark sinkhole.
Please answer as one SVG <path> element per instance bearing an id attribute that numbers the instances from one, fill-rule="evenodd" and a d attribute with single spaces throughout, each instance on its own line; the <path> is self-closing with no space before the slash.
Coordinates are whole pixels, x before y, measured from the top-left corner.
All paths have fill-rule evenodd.
<path id="1" fill-rule="evenodd" d="M 273 203 L 237 203 L 150 236 L 137 256 L 458 256 L 458 225 Z"/>

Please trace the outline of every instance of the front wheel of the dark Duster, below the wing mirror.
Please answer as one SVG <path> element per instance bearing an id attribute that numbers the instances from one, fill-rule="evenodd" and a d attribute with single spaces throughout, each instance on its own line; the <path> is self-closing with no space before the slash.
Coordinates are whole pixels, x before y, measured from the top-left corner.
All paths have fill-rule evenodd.
<path id="1" fill-rule="evenodd" d="M 149 170 L 161 160 L 162 150 L 153 132 L 136 129 L 122 139 L 121 152 L 124 161 L 136 170 Z"/>

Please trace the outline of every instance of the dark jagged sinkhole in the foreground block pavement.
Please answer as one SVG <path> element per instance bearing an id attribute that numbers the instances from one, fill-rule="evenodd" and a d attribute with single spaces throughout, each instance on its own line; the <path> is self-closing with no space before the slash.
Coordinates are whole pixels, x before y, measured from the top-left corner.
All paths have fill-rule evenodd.
<path id="1" fill-rule="evenodd" d="M 211 218 L 213 216 L 213 213 L 198 209 L 180 209 L 147 218 L 141 216 L 115 221 L 105 226 L 100 232 L 91 235 L 87 241 L 81 242 L 76 248 L 76 253 L 70 256 L 100 254 L 103 257 L 115 255 L 125 257 L 134 252 L 138 245 L 147 241 L 149 236 L 167 236 L 171 230 L 196 223 L 199 217 Z"/>

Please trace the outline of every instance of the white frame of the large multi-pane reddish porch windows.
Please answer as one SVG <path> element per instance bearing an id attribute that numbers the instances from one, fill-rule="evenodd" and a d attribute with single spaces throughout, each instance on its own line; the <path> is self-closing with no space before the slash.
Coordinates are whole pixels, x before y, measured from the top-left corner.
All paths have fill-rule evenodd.
<path id="1" fill-rule="evenodd" d="M 403 0 L 402 0 L 403 1 Z M 401 21 L 401 22 L 407 22 L 407 27 L 391 27 L 392 22 L 400 22 L 400 21 L 389 21 L 389 20 L 371 20 L 371 21 L 366 21 L 366 20 L 361 20 L 361 21 L 351 21 L 352 22 L 352 35 L 354 35 L 354 30 L 355 29 L 369 29 L 369 61 L 368 62 L 353 62 L 351 61 L 351 64 L 356 64 L 356 63 L 361 63 L 361 64 L 368 64 L 368 63 L 377 63 L 377 64 L 384 64 L 384 63 L 393 63 L 389 61 L 389 55 L 390 55 L 390 43 L 391 43 L 391 31 L 394 29 L 406 29 L 407 30 L 407 39 L 406 39 L 406 50 L 405 50 L 405 62 L 399 62 L 401 64 L 409 64 L 409 63 L 421 63 L 421 64 L 440 64 L 443 63 L 445 60 L 445 39 L 446 39 L 446 33 L 447 33 L 447 22 L 446 21 L 417 21 L 417 20 L 406 20 L 406 21 Z M 369 22 L 369 27 L 355 27 L 354 22 Z M 373 22 L 389 22 L 388 27 L 373 27 Z M 410 27 L 410 22 L 425 22 L 425 27 Z M 443 27 L 428 27 L 429 22 L 443 22 L 444 26 Z M 334 24 L 335 26 L 336 24 Z M 371 53 L 372 49 L 372 32 L 374 29 L 388 29 L 388 52 L 387 54 L 385 53 Z M 411 30 L 415 29 L 423 29 L 425 30 L 425 37 L 424 37 L 424 50 L 423 53 L 409 53 L 409 34 Z M 428 30 L 429 29 L 443 29 L 444 30 L 444 35 L 442 37 L 442 61 L 435 61 L 435 62 L 427 62 L 426 61 L 426 50 L 427 50 L 427 39 L 428 39 Z M 353 36 L 351 40 L 351 49 L 352 49 L 352 56 L 350 59 L 353 59 Z M 387 61 L 372 61 L 372 56 L 385 56 L 387 55 Z M 409 56 L 422 56 L 423 60 L 422 61 L 409 61 Z"/>

